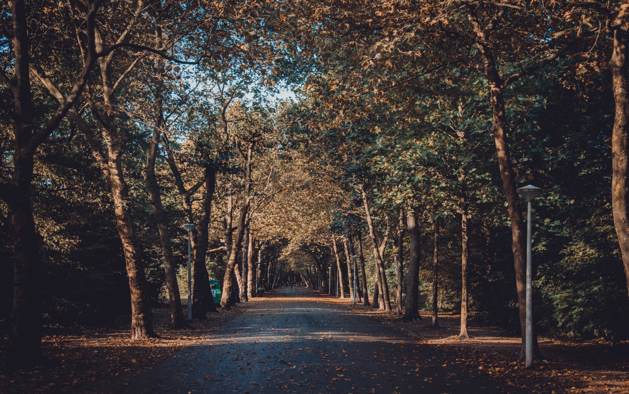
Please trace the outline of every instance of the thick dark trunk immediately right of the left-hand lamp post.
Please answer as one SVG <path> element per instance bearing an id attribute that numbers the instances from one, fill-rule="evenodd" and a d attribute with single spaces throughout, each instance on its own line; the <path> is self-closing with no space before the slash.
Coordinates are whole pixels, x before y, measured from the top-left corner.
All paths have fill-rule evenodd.
<path id="1" fill-rule="evenodd" d="M 209 164 L 204 169 L 204 190 L 201 212 L 195 227 L 197 239 L 194 253 L 194 288 L 192 289 L 192 317 L 204 320 L 208 312 L 218 312 L 214 305 L 212 290 L 209 287 L 208 266 L 208 227 L 211 218 L 212 198 L 216 188 L 216 167 Z"/>

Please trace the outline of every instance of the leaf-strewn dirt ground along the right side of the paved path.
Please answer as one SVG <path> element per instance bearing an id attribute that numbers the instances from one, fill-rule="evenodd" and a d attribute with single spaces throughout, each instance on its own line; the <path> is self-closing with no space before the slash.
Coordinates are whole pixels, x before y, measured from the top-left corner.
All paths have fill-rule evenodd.
<path id="1" fill-rule="evenodd" d="M 404 330 L 420 342 L 450 354 L 465 368 L 485 369 L 496 380 L 540 393 L 629 393 L 629 342 L 562 342 L 540 338 L 544 359 L 533 370 L 518 361 L 520 338 L 495 327 L 468 328 L 471 339 L 460 341 L 460 315 L 441 314 L 440 327 L 431 327 L 432 314 L 422 312 L 420 322 L 403 322 L 395 312 L 353 305 L 348 298 L 333 298 L 352 312 L 367 315 Z M 393 307 L 395 310 L 395 307 Z"/>

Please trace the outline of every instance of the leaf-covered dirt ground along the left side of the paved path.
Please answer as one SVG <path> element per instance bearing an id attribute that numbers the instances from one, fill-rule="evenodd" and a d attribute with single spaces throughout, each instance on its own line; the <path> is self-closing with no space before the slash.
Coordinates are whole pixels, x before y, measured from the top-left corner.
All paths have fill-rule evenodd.
<path id="1" fill-rule="evenodd" d="M 159 338 L 142 341 L 129 339 L 127 319 L 100 328 L 44 327 L 42 351 L 48 363 L 33 369 L 13 369 L 0 359 L 0 393 L 83 393 L 94 385 L 102 388 L 112 381 L 131 381 L 172 352 L 203 341 L 213 330 L 258 302 L 254 298 L 230 310 L 219 309 L 218 313 L 208 313 L 208 320 L 194 320 L 194 329 L 178 330 L 168 327 L 169 308 L 153 308 L 154 329 Z M 0 339 L 0 349 L 7 341 L 6 337 Z"/>

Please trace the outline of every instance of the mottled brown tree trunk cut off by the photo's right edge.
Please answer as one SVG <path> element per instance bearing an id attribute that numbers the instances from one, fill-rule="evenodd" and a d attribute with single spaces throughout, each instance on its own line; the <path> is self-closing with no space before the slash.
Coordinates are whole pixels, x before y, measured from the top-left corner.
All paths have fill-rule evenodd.
<path id="1" fill-rule="evenodd" d="M 628 64 L 626 45 L 628 42 L 626 13 L 629 1 L 623 0 L 616 17 L 613 53 L 610 60 L 611 84 L 616 103 L 614 128 L 611 132 L 611 207 L 614 226 L 625 266 L 627 291 L 629 292 L 629 184 L 627 175 L 629 154 L 627 132 L 629 130 L 629 98 L 627 93 Z"/>

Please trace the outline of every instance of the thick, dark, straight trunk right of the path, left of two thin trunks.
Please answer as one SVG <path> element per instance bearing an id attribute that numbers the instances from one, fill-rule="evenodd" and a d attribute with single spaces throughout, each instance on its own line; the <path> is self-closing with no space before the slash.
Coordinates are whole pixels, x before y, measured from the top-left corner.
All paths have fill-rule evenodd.
<path id="1" fill-rule="evenodd" d="M 421 320 L 419 311 L 420 287 L 420 228 L 417 225 L 415 213 L 406 213 L 406 228 L 408 231 L 408 279 L 406 282 L 406 306 L 403 320 L 414 322 Z"/>

